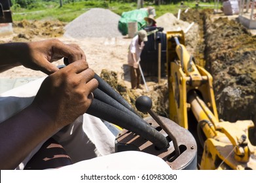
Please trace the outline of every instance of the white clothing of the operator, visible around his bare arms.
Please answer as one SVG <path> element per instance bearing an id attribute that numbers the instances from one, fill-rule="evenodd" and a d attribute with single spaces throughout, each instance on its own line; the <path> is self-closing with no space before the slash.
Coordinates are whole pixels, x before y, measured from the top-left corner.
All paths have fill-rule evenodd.
<path id="1" fill-rule="evenodd" d="M 1 93 L 0 123 L 31 104 L 44 79 Z M 115 136 L 99 118 L 89 114 L 80 116 L 53 137 L 64 146 L 74 163 L 60 169 L 170 169 L 164 160 L 151 154 L 132 151 L 114 153 Z M 43 143 L 16 169 L 24 169 Z"/>

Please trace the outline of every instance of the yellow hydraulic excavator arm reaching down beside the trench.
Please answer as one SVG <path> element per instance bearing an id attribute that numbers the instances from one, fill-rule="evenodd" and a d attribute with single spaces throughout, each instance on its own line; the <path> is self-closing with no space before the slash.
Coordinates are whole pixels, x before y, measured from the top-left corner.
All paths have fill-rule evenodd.
<path id="1" fill-rule="evenodd" d="M 220 122 L 213 78 L 194 63 L 183 31 L 167 32 L 166 40 L 170 120 L 196 131 L 195 139 L 202 145 L 198 169 L 256 169 L 256 146 L 248 139 L 253 122 Z"/>

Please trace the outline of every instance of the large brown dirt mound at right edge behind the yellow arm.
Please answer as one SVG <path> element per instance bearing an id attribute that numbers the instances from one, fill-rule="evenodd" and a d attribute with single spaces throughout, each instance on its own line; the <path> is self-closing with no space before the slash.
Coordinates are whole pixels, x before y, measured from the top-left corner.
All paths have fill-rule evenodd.
<path id="1" fill-rule="evenodd" d="M 256 37 L 236 20 L 206 17 L 206 67 L 213 76 L 219 117 L 256 122 Z"/>

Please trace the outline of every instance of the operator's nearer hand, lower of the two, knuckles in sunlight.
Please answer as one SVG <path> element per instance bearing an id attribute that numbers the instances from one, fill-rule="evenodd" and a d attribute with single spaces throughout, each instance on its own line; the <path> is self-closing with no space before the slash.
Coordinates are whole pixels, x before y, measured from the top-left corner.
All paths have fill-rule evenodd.
<path id="1" fill-rule="evenodd" d="M 48 76 L 32 105 L 47 114 L 56 127 L 64 127 L 86 112 L 97 87 L 94 71 L 81 59 Z"/>

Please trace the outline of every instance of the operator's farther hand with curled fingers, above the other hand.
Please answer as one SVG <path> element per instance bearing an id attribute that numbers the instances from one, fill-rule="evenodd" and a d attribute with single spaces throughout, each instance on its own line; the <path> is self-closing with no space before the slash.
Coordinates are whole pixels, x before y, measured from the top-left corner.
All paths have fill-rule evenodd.
<path id="1" fill-rule="evenodd" d="M 22 65 L 33 70 L 39 70 L 46 74 L 58 71 L 58 67 L 52 65 L 53 61 L 67 58 L 69 63 L 79 59 L 86 60 L 84 52 L 76 44 L 64 44 L 58 39 L 47 41 L 29 42 L 30 59 L 22 60 Z"/>

